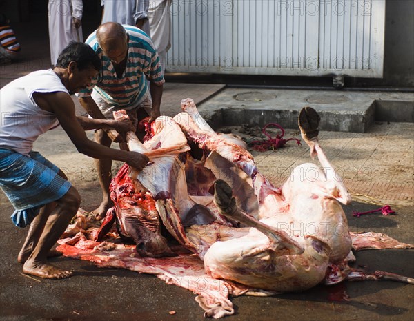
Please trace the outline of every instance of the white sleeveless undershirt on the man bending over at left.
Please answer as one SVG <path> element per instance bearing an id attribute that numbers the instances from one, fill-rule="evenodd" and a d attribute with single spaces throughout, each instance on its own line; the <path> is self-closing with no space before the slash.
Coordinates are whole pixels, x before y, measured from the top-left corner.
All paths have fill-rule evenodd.
<path id="1" fill-rule="evenodd" d="M 59 125 L 56 115 L 33 99 L 33 93 L 53 92 L 68 90 L 52 69 L 31 72 L 1 88 L 0 148 L 28 155 L 39 135 Z"/>

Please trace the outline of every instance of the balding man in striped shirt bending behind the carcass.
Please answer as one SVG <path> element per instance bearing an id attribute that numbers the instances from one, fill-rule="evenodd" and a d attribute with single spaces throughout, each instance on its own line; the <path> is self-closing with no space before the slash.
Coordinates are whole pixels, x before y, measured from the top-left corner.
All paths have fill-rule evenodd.
<path id="1" fill-rule="evenodd" d="M 133 26 L 108 22 L 92 32 L 86 43 L 102 62 L 101 70 L 90 86 L 78 94 L 81 106 L 90 117 L 113 119 L 115 110 L 124 109 L 137 128 L 139 121 L 148 115 L 150 121 L 161 115 L 164 77 L 157 49 L 145 32 Z M 137 136 L 143 137 L 138 128 Z M 96 130 L 95 141 L 104 146 L 119 142 L 121 149 L 128 148 L 124 137 L 113 128 Z M 93 213 L 100 219 L 113 206 L 109 194 L 112 161 L 97 159 L 95 164 L 103 199 Z"/>

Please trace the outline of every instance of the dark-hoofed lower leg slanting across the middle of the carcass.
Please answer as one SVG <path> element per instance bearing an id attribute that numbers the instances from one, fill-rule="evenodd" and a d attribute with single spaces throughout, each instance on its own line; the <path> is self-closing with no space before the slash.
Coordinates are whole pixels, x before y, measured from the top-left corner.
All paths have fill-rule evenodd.
<path id="1" fill-rule="evenodd" d="M 268 226 L 242 211 L 236 204 L 230 186 L 221 179 L 217 179 L 215 182 L 214 202 L 222 215 L 230 217 L 246 226 L 254 227 L 258 231 L 264 233 L 270 240 L 270 248 L 273 248 L 274 251 L 288 249 L 290 254 L 303 253 L 303 247 L 293 240 L 286 232 Z"/>

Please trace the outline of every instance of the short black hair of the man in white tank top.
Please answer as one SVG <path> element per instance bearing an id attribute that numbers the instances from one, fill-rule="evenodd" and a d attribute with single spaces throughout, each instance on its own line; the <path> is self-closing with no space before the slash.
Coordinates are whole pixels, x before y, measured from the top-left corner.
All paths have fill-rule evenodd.
<path id="1" fill-rule="evenodd" d="M 95 68 L 97 71 L 101 70 L 101 59 L 86 43 L 70 42 L 59 54 L 56 67 L 67 68 L 70 61 L 75 61 L 79 70 L 90 67 Z"/>

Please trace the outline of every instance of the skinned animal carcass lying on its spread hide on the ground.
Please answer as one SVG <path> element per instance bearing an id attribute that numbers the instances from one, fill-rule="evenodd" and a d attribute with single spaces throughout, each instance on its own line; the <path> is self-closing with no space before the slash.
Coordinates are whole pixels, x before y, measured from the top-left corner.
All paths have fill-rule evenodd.
<path id="1" fill-rule="evenodd" d="M 319 146 L 315 110 L 302 109 L 299 128 L 323 169 L 297 166 L 276 188 L 258 171 L 244 142 L 215 133 L 193 100 L 181 101 L 181 107 L 184 112 L 174 118 L 157 118 L 144 144 L 127 134 L 130 150 L 146 154 L 150 163 L 141 172 L 125 164 L 112 180 L 115 206 L 101 228 L 61 240 L 60 251 L 190 289 L 214 318 L 234 313 L 229 295 L 297 292 L 345 279 L 413 283 L 347 265 L 355 260 L 353 240 L 355 249 L 413 246 L 348 230 L 340 203 L 351 197 Z"/>

